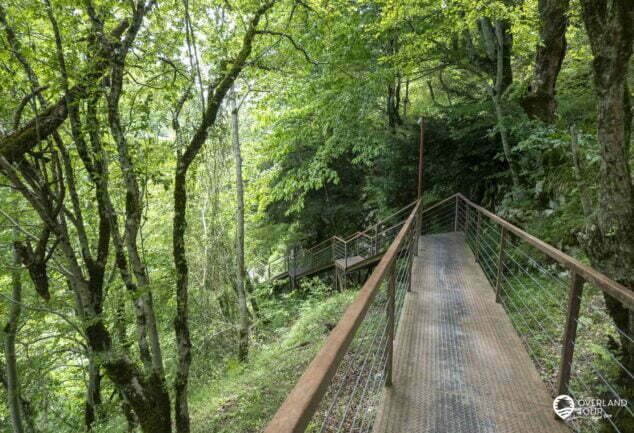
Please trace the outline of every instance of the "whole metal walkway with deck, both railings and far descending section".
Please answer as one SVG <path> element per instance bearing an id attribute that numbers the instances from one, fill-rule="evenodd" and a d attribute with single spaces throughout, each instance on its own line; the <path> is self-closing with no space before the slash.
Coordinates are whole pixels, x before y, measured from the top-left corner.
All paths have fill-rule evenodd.
<path id="1" fill-rule="evenodd" d="M 364 269 L 265 433 L 632 431 L 628 405 L 596 417 L 553 411 L 561 394 L 624 401 L 634 375 L 600 342 L 634 341 L 601 300 L 634 309 L 629 289 L 461 194 L 417 201 L 256 275 L 295 284 L 333 272 L 345 288 Z"/>

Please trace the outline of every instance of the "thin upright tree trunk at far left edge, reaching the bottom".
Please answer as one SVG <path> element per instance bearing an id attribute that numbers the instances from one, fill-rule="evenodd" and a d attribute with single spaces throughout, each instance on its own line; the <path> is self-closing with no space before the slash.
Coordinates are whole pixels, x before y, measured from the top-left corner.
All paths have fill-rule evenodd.
<path id="1" fill-rule="evenodd" d="M 14 229 L 16 234 L 16 229 Z M 20 385 L 18 379 L 17 360 L 15 355 L 15 336 L 18 331 L 18 321 L 22 313 L 22 281 L 20 278 L 20 254 L 17 240 L 13 246 L 13 266 L 11 271 L 12 301 L 9 307 L 9 320 L 4 327 L 4 358 L 7 371 L 7 406 L 11 417 L 14 433 L 24 433 L 22 410 L 20 405 Z"/>

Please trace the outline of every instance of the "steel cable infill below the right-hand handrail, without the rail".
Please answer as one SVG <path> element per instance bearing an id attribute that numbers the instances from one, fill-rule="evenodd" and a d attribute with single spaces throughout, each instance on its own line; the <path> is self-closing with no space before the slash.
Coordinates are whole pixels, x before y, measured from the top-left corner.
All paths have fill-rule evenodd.
<path id="1" fill-rule="evenodd" d="M 465 231 L 467 244 L 494 288 L 499 278 L 500 301 L 542 378 L 554 393 L 568 314 L 569 271 L 511 233 L 507 233 L 500 260 L 501 226 L 469 206 L 464 211 L 459 207 L 456 215 L 456 224 Z M 628 384 L 634 383 L 634 374 L 614 347 L 609 347 L 609 342 L 614 337 L 631 343 L 632 337 L 612 322 L 604 303 L 600 302 L 599 290 L 587 287 L 583 299 L 581 315 L 578 319 L 573 318 L 577 338 L 571 342 L 574 358 L 570 363 L 570 394 L 581 397 L 585 393 L 585 397 L 623 400 Z M 611 415 L 612 418 L 600 421 L 575 419 L 569 424 L 579 432 L 619 433 L 623 431 L 619 423 L 634 425 L 628 424 L 634 419 L 628 406 L 619 407 Z M 619 421 L 620 418 L 623 420 Z"/>

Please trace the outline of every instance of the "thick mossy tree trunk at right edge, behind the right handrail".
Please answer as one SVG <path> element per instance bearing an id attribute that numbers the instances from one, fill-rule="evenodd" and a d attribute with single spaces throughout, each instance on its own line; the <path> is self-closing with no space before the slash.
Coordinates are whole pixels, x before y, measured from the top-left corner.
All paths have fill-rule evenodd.
<path id="1" fill-rule="evenodd" d="M 601 146 L 598 206 L 588 221 L 587 249 L 595 267 L 634 289 L 634 186 L 629 165 L 632 112 L 627 84 L 634 39 L 634 3 L 582 0 L 581 5 L 594 56 Z M 634 371 L 634 312 L 616 299 L 605 297 L 610 316 L 624 333 L 624 365 Z M 634 389 L 631 378 L 628 383 Z"/>

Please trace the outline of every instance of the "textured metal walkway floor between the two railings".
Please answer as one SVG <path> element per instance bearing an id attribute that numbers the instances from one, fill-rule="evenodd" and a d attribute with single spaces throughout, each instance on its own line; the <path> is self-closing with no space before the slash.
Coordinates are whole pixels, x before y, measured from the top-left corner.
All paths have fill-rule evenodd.
<path id="1" fill-rule="evenodd" d="M 464 234 L 424 236 L 419 251 L 374 432 L 570 432 Z"/>

